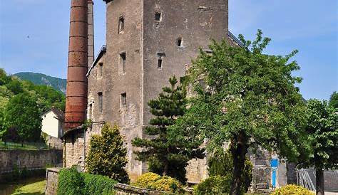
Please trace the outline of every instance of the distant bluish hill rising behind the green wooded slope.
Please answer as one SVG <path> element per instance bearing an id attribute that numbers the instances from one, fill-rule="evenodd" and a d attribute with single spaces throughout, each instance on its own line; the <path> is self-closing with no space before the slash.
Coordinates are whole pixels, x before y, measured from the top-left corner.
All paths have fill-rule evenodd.
<path id="1" fill-rule="evenodd" d="M 16 73 L 14 76 L 20 78 L 21 80 L 30 80 L 36 85 L 51 86 L 62 93 L 66 93 L 66 79 L 51 77 L 41 73 Z"/>

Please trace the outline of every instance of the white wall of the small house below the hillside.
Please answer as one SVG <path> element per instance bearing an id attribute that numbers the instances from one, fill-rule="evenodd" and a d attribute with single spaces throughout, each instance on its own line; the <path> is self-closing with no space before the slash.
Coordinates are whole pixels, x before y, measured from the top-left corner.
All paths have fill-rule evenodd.
<path id="1" fill-rule="evenodd" d="M 42 117 L 41 131 L 52 137 L 60 137 L 62 132 L 61 122 L 58 120 L 54 112 L 46 112 Z"/>

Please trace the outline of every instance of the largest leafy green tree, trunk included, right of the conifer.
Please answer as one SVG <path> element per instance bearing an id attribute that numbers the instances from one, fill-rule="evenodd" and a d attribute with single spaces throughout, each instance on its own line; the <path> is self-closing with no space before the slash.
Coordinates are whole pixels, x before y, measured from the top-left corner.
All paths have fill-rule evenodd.
<path id="1" fill-rule="evenodd" d="M 212 54 L 200 51 L 188 76 L 196 97 L 178 119 L 175 131 L 196 132 L 209 139 L 209 148 L 231 142 L 232 182 L 230 194 L 241 194 L 241 176 L 249 147 L 274 150 L 295 161 L 302 153 L 305 105 L 292 76 L 299 69 L 287 56 L 262 53 L 270 38 L 257 32 L 255 41 L 239 36 L 244 47 L 232 47 L 226 40 L 210 46 Z M 203 88 L 205 86 L 205 88 Z"/>

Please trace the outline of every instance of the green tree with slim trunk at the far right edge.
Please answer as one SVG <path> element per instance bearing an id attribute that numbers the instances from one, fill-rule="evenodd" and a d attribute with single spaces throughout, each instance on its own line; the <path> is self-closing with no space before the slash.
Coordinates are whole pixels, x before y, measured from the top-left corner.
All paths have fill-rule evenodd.
<path id="1" fill-rule="evenodd" d="M 312 147 L 303 167 L 316 169 L 316 191 L 324 194 L 324 170 L 338 169 L 338 108 L 326 101 L 309 100 L 307 104 L 307 133 Z"/>

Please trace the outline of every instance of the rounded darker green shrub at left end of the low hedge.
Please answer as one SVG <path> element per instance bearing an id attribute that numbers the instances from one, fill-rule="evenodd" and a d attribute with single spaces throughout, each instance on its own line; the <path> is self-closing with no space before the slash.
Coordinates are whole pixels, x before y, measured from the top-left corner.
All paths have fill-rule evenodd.
<path id="1" fill-rule="evenodd" d="M 75 167 L 62 169 L 58 175 L 58 195 L 80 195 L 82 194 L 84 182 L 81 174 Z"/>

